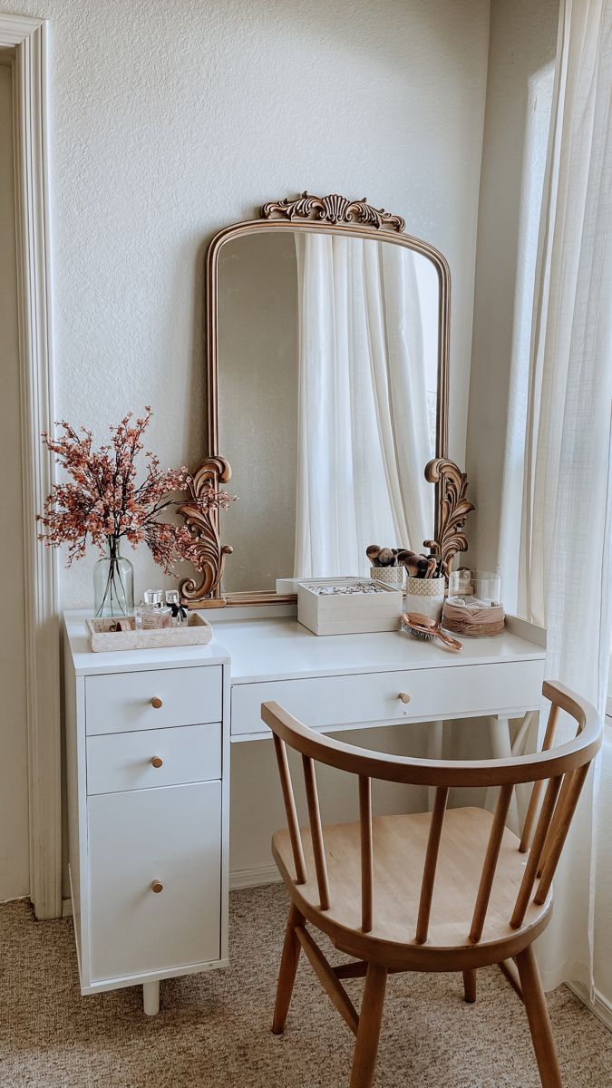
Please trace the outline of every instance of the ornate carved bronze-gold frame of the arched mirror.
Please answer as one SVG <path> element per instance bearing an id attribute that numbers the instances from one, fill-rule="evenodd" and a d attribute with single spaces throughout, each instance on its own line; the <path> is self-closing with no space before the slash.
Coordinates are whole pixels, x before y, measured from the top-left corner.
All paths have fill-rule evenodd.
<path id="1" fill-rule="evenodd" d="M 197 499 L 206 489 L 218 489 L 232 478 L 229 460 L 220 453 L 219 441 L 219 258 L 228 242 L 260 232 L 295 232 L 301 234 L 322 232 L 346 235 L 360 239 L 388 242 L 394 247 L 403 246 L 415 255 L 421 255 L 433 265 L 438 283 L 438 399 L 434 409 L 436 457 L 425 467 L 425 479 L 436 489 L 433 539 L 424 541 L 425 547 L 441 556 L 449 570 L 457 552 L 466 551 L 467 541 L 463 532 L 472 503 L 466 497 L 467 479 L 453 461 L 448 459 L 448 362 L 450 338 L 450 273 L 443 256 L 428 243 L 404 234 L 405 222 L 376 208 L 365 198 L 351 200 L 339 194 L 317 197 L 303 193 L 296 198 L 269 201 L 260 210 L 260 218 L 235 223 L 217 234 L 207 251 L 207 441 L 209 456 L 193 475 L 192 495 L 183 504 L 180 514 L 185 518 L 201 554 L 200 571 L 181 582 L 183 602 L 191 607 L 222 607 L 259 603 L 283 603 L 292 601 L 292 595 L 280 595 L 269 591 L 234 592 L 222 596 L 221 578 L 227 556 L 234 551 L 222 543 L 223 527 L 220 512 L 198 509 Z M 433 424 L 432 424 L 433 425 Z M 227 452 L 227 450 L 224 450 Z M 425 458 L 424 458 L 425 460 Z M 424 472 L 420 462 L 419 473 Z M 423 475 L 421 475 L 423 479 Z M 240 491 L 240 487 L 238 487 Z M 231 526 L 231 519 L 224 521 Z M 244 558 L 244 552 L 243 552 Z M 248 560 L 246 560 L 248 561 Z M 277 572 L 278 577 L 284 573 Z"/>

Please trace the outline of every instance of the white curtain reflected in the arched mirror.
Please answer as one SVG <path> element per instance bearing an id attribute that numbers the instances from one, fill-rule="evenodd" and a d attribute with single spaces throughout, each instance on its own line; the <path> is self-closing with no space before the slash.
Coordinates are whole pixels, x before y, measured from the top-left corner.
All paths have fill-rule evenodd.
<path id="1" fill-rule="evenodd" d="M 431 535 L 432 456 L 413 255 L 296 233 L 299 310 L 294 573 L 366 573 L 378 542 Z"/>

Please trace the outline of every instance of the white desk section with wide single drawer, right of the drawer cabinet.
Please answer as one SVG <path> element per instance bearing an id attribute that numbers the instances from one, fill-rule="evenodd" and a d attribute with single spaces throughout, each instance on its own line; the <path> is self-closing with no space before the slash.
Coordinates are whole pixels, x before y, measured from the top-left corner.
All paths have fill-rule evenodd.
<path id="1" fill-rule="evenodd" d="M 540 704 L 543 632 L 522 620 L 509 618 L 494 639 L 464 639 L 453 653 L 394 631 L 315 635 L 294 616 L 277 618 L 280 607 L 257 620 L 234 619 L 235 610 L 216 621 L 231 659 L 233 742 L 270 737 L 260 717 L 270 700 L 334 731 L 485 715 L 505 722 Z M 499 743 L 507 737 L 501 729 Z"/>

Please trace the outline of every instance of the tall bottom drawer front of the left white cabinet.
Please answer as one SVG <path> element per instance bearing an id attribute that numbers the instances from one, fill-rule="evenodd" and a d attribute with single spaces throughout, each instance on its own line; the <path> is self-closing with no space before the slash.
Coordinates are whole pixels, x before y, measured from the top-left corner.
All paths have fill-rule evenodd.
<path id="1" fill-rule="evenodd" d="M 221 783 L 99 794 L 87 812 L 91 982 L 219 960 Z"/>

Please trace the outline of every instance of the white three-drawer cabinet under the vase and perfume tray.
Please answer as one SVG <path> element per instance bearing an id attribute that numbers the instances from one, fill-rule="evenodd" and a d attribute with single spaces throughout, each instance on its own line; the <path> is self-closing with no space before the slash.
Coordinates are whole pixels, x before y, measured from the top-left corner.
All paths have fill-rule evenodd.
<path id="1" fill-rule="evenodd" d="M 65 618 L 70 880 L 83 993 L 228 962 L 229 658 L 94 654 Z"/>

